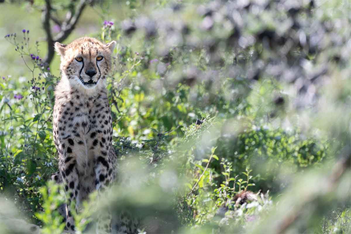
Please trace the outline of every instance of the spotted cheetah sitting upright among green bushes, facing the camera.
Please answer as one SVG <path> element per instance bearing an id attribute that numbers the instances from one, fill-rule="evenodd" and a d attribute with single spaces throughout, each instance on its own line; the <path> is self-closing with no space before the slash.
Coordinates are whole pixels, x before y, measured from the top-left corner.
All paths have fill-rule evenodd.
<path id="1" fill-rule="evenodd" d="M 61 56 L 61 80 L 55 88 L 53 135 L 59 155 L 59 175 L 67 204 L 66 230 L 74 232 L 70 204 L 81 202 L 95 189 L 100 194 L 116 177 L 112 119 L 106 77 L 115 41 L 104 44 L 83 37 L 68 45 L 55 43 Z M 101 215 L 99 215 L 101 217 Z M 97 233 L 111 233 L 111 213 L 98 218 Z"/>

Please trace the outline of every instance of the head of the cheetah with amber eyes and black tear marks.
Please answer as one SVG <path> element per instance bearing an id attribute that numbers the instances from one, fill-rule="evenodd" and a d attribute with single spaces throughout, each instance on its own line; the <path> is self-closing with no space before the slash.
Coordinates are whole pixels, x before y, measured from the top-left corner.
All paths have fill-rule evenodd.
<path id="1" fill-rule="evenodd" d="M 56 42 L 55 50 L 61 55 L 62 79 L 67 79 L 70 86 L 77 88 L 104 86 L 115 45 L 115 41 L 103 44 L 89 37 L 79 38 L 68 45 Z"/>

